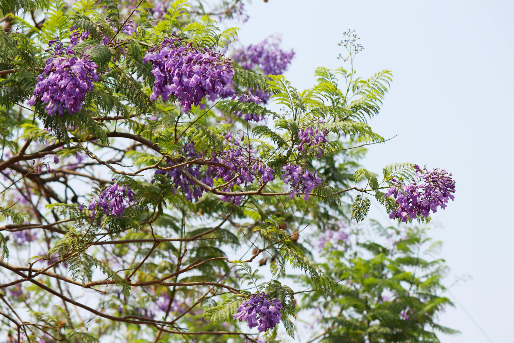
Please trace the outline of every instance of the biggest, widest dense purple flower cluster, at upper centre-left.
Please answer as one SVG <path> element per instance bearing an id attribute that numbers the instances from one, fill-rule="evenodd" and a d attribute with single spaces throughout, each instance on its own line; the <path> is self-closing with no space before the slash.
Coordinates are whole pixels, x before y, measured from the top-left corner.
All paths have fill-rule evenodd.
<path id="1" fill-rule="evenodd" d="M 192 43 L 183 46 L 179 39 L 165 38 L 143 58 L 144 63 L 149 61 L 153 63 L 155 77 L 150 99 L 161 96 L 166 102 L 173 95 L 184 113 L 192 105 L 198 106 L 206 96 L 216 100 L 232 85 L 234 69 L 229 59 L 208 49 L 201 51 Z"/>

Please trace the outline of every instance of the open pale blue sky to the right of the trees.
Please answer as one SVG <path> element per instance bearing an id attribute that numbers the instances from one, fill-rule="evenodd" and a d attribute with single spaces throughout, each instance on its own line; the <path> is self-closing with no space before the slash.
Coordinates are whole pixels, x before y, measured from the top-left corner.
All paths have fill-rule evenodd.
<path id="1" fill-rule="evenodd" d="M 443 228 L 431 232 L 445 243 L 446 284 L 471 275 L 452 294 L 494 343 L 514 342 L 514 232 L 503 180 L 514 166 L 514 2 L 253 0 L 248 12 L 241 43 L 282 34 L 283 46 L 296 51 L 285 75 L 299 89 L 314 84 L 316 67 L 341 66 L 336 57 L 345 51 L 337 43 L 348 28 L 365 47 L 356 60 L 360 76 L 393 71 L 371 125 L 386 138 L 399 136 L 370 147 L 364 167 L 381 173 L 408 161 L 453 173 L 455 201 L 433 216 Z M 375 206 L 370 218 L 387 223 Z M 487 342 L 458 306 L 440 323 L 462 331 L 440 335 L 444 343 Z"/>

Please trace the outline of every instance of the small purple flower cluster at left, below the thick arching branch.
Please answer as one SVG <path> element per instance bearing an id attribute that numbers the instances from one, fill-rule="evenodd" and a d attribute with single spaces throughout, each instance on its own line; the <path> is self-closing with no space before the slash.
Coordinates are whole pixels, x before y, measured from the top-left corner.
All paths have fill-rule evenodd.
<path id="1" fill-rule="evenodd" d="M 113 179 L 113 181 L 114 180 L 115 179 Z M 128 185 L 118 184 L 116 181 L 114 185 L 102 192 L 98 200 L 95 197 L 93 202 L 89 204 L 88 209 L 91 211 L 91 219 L 95 217 L 97 205 L 106 215 L 119 215 L 123 217 L 125 207 L 133 202 L 134 192 L 130 187 L 128 187 Z"/>

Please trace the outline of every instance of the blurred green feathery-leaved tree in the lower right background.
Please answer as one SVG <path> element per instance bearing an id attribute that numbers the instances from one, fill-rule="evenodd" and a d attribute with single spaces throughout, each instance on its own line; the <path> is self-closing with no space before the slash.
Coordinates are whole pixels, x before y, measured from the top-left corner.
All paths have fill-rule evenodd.
<path id="1" fill-rule="evenodd" d="M 323 248 L 322 267 L 341 282 L 328 299 L 320 291 L 302 298 L 302 310 L 323 312 L 322 341 L 439 342 L 436 332 L 458 333 L 437 323 L 453 306 L 442 283 L 448 267 L 435 258 L 442 242 L 433 242 L 427 227 L 373 226 L 374 239 L 361 241 L 354 232 L 350 241 Z M 299 281 L 314 288 L 304 277 Z"/>

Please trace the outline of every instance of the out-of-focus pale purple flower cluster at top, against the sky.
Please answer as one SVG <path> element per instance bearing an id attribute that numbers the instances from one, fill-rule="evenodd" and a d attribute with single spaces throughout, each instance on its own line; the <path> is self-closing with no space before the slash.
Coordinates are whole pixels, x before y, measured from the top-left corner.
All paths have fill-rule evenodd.
<path id="1" fill-rule="evenodd" d="M 271 41 L 271 37 L 268 37 L 259 44 L 251 44 L 235 50 L 232 59 L 245 69 L 258 67 L 266 75 L 281 75 L 291 63 L 295 52 L 282 50 L 280 41 L 280 39 Z"/>

